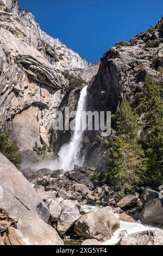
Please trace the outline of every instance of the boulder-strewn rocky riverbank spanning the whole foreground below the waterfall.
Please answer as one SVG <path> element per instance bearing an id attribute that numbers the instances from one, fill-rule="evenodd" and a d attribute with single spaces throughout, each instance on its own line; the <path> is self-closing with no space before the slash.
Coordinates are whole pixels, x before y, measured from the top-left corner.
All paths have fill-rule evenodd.
<path id="1" fill-rule="evenodd" d="M 28 181 L 6 157 L 1 154 L 0 158 L 2 245 L 62 245 L 64 241 L 99 245 L 116 234 L 122 245 L 162 244 L 163 232 L 155 228 L 163 227 L 158 191 L 141 187 L 122 198 L 109 186 L 91 181 L 95 169 L 78 166 L 65 174 L 63 170 L 31 171 Z M 122 228 L 123 223 L 139 225 L 138 220 L 153 228 L 143 228 L 144 233 L 137 235 Z"/>

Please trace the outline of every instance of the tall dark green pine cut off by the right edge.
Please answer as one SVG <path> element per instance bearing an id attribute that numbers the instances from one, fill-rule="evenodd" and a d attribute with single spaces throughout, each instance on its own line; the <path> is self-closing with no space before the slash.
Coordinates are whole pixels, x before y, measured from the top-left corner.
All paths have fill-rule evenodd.
<path id="1" fill-rule="evenodd" d="M 141 143 L 147 158 L 146 184 L 163 184 L 163 104 L 160 88 L 147 76 L 141 103 L 143 129 Z"/>

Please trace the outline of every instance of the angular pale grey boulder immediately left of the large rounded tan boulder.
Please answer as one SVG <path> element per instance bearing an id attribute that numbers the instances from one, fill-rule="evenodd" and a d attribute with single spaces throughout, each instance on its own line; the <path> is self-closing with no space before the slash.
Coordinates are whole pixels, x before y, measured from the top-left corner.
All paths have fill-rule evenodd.
<path id="1" fill-rule="evenodd" d="M 77 208 L 77 201 L 64 200 L 61 203 L 62 212 L 57 222 L 57 230 L 60 235 L 64 235 L 68 229 L 78 220 L 80 217 L 79 210 Z"/>

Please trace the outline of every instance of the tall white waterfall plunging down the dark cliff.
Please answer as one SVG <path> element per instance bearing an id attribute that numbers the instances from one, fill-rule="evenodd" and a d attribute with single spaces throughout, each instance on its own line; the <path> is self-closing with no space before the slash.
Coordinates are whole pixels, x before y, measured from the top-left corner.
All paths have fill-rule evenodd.
<path id="1" fill-rule="evenodd" d="M 84 157 L 80 157 L 80 149 L 82 147 L 82 139 L 84 131 L 81 129 L 82 126 L 82 115 L 83 111 L 86 111 L 87 102 L 87 86 L 85 86 L 79 97 L 77 113 L 75 118 L 75 130 L 71 136 L 71 141 L 61 147 L 59 155 L 59 166 L 58 169 L 72 170 L 74 164 L 83 166 Z M 86 124 L 84 124 L 86 125 Z"/>

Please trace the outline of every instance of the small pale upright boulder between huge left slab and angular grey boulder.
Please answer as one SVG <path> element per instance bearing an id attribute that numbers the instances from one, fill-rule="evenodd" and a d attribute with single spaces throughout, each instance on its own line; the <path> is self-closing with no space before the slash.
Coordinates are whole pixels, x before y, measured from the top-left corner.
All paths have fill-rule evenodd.
<path id="1" fill-rule="evenodd" d="M 50 212 L 50 219 L 52 222 L 56 222 L 59 219 L 61 214 L 61 205 L 59 202 L 52 200 L 51 203 L 48 205 L 49 212 Z"/>

